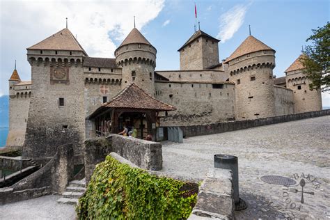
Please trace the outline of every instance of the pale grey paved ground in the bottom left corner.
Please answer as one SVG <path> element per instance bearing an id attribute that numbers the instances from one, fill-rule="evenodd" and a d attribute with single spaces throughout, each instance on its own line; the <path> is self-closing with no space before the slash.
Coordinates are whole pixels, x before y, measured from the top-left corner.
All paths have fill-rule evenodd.
<path id="1" fill-rule="evenodd" d="M 58 204 L 58 198 L 61 196 L 42 196 L 0 205 L 0 219 L 76 219 L 74 205 Z"/>

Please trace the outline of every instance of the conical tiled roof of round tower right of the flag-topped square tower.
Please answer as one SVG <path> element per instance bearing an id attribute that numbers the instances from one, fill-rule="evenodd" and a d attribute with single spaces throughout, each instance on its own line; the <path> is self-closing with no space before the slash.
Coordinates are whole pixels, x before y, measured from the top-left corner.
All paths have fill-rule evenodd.
<path id="1" fill-rule="evenodd" d="M 237 58 L 239 56 L 243 56 L 245 54 L 250 54 L 253 52 L 258 52 L 261 50 L 273 50 L 274 49 L 268 47 L 263 42 L 258 40 L 257 38 L 253 36 L 247 37 L 237 49 L 235 49 L 235 52 L 231 54 L 225 61 L 225 63 L 228 63 L 229 61 L 233 60 L 234 58 Z"/>

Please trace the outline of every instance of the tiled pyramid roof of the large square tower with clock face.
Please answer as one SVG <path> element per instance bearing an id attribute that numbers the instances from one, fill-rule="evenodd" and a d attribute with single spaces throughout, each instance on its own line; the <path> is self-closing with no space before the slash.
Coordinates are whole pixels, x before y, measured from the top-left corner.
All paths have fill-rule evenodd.
<path id="1" fill-rule="evenodd" d="M 72 50 L 81 51 L 87 56 L 85 50 L 81 47 L 76 38 L 69 29 L 63 29 L 53 34 L 49 38 L 38 42 L 27 49 L 52 49 L 52 50 Z"/>

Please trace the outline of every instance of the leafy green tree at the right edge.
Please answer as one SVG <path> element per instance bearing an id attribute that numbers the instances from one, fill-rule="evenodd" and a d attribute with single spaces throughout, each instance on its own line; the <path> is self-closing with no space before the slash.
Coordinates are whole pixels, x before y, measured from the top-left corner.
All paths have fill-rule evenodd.
<path id="1" fill-rule="evenodd" d="M 311 41 L 312 45 L 305 47 L 306 56 L 301 58 L 305 67 L 303 72 L 311 80 L 311 89 L 330 91 L 330 23 L 312 31 L 313 35 L 306 40 Z"/>

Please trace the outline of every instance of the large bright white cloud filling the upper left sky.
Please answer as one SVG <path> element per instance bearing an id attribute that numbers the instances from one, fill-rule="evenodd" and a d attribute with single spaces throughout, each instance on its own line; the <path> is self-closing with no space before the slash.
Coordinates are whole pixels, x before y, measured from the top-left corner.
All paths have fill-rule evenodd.
<path id="1" fill-rule="evenodd" d="M 155 19 L 163 7 L 164 0 L 1 1 L 0 93 L 8 93 L 8 79 L 15 59 L 19 76 L 30 79 L 26 48 L 65 28 L 65 17 L 68 17 L 68 28 L 74 36 L 77 34 L 89 56 L 113 57 L 116 44 L 133 28 L 133 16 L 136 27 L 141 29 Z"/>

